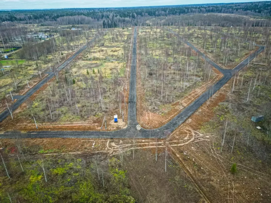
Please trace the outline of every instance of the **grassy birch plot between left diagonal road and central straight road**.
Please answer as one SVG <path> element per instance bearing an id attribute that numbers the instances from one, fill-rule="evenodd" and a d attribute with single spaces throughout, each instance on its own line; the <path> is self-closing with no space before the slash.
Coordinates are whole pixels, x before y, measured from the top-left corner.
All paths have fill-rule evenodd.
<path id="1" fill-rule="evenodd" d="M 108 129 L 126 124 L 130 63 L 131 30 L 112 29 L 83 51 L 56 78 L 2 122 L 3 129 L 99 130 L 104 116 Z M 124 122 L 122 121 L 124 112 Z M 118 123 L 113 116 L 118 114 Z M 5 122 L 12 122 L 6 127 Z M 105 129 L 105 123 L 103 125 Z"/>

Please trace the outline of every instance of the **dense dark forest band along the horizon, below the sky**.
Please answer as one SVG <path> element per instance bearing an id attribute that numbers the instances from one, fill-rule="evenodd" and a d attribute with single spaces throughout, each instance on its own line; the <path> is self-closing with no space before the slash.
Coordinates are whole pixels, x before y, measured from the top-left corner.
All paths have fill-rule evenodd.
<path id="1" fill-rule="evenodd" d="M 70 25 L 102 23 L 104 28 L 140 24 L 142 19 L 183 14 L 225 13 L 270 17 L 271 1 L 229 4 L 194 4 L 131 8 L 73 8 L 0 11 L 0 22 Z"/>

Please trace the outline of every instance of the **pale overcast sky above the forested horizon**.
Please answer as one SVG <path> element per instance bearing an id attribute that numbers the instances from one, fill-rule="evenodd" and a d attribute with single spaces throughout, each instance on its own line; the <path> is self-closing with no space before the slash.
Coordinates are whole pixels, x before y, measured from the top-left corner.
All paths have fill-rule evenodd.
<path id="1" fill-rule="evenodd" d="M 0 0 L 0 9 L 101 8 L 248 2 L 249 0 Z M 261 0 L 260 0 L 261 1 Z"/>

